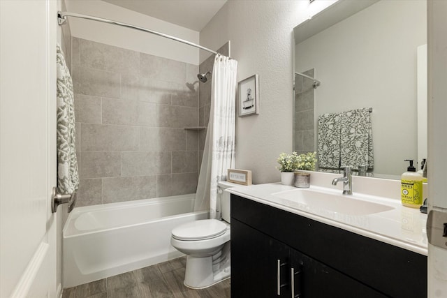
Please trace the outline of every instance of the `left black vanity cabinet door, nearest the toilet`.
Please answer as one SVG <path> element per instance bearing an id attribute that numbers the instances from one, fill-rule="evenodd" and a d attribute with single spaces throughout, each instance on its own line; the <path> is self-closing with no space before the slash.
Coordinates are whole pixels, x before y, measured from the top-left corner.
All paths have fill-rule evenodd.
<path id="1" fill-rule="evenodd" d="M 289 261 L 288 246 L 232 218 L 232 298 L 290 297 Z"/>

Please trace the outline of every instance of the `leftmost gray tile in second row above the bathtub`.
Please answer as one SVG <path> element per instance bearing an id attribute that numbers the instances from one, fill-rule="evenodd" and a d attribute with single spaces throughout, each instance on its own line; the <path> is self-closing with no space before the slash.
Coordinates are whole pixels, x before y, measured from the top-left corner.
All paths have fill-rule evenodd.
<path id="1" fill-rule="evenodd" d="M 82 151 L 80 178 L 119 177 L 121 175 L 121 152 Z"/>

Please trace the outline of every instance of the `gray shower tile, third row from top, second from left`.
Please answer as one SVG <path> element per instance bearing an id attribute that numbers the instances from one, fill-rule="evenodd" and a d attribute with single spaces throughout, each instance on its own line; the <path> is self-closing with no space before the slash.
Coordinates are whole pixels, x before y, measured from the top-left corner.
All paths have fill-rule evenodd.
<path id="1" fill-rule="evenodd" d="M 138 101 L 103 98 L 103 124 L 135 125 L 138 123 Z"/>

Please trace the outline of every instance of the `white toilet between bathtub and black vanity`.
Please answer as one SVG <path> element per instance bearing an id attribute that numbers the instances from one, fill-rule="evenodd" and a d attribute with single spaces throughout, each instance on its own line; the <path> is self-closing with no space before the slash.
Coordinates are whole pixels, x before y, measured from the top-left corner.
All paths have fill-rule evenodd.
<path id="1" fill-rule="evenodd" d="M 225 190 L 236 186 L 218 183 L 222 221 L 193 221 L 172 231 L 170 244 L 186 255 L 184 285 L 189 288 L 207 288 L 230 277 L 230 193 Z"/>

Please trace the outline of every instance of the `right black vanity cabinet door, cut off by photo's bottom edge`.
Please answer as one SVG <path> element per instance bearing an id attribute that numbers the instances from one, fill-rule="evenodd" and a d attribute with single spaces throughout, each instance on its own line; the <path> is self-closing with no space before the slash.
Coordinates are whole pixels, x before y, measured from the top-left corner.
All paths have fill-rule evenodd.
<path id="1" fill-rule="evenodd" d="M 367 270 L 367 268 L 365 268 Z M 291 288 L 300 298 L 387 297 L 339 271 L 291 248 Z"/>

